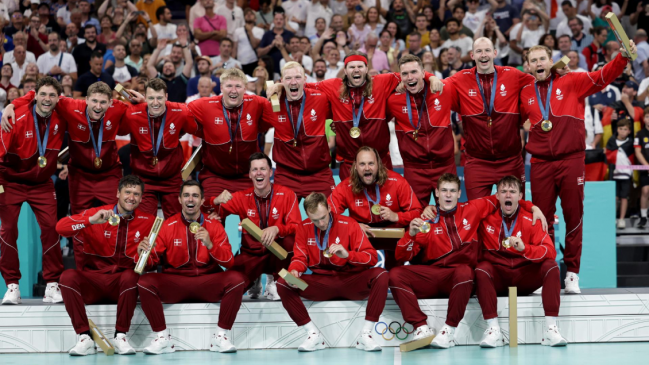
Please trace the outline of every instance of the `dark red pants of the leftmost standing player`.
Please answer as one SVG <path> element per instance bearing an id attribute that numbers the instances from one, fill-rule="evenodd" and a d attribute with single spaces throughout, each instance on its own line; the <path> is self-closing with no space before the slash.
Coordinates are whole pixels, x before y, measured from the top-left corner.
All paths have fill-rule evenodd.
<path id="1" fill-rule="evenodd" d="M 38 185 L 0 182 L 0 273 L 7 284 L 18 284 L 21 278 L 18 259 L 18 217 L 23 203 L 27 202 L 36 215 L 41 228 L 43 247 L 43 279 L 58 282 L 63 272 L 63 256 L 59 234 L 56 232 L 56 194 L 54 183 L 48 179 Z M 23 232 L 25 237 L 28 232 Z M 36 249 L 31 247 L 30 249 Z"/>

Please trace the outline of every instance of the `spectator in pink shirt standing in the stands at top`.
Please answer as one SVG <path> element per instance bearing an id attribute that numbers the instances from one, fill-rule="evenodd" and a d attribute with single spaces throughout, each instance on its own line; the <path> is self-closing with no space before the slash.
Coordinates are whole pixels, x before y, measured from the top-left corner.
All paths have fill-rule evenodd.
<path id="1" fill-rule="evenodd" d="M 199 41 L 201 54 L 219 55 L 219 41 L 227 36 L 228 24 L 224 17 L 214 13 L 214 0 L 201 0 L 205 16 L 194 20 L 194 36 Z"/>

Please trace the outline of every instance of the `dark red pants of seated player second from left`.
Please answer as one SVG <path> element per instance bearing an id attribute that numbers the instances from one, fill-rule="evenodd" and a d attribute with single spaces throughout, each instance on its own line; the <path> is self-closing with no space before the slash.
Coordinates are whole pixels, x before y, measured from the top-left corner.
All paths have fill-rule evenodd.
<path id="1" fill-rule="evenodd" d="M 137 283 L 142 310 L 154 332 L 167 329 L 162 303 L 221 302 L 219 327 L 231 329 L 245 290 L 246 277 L 225 271 L 201 276 L 146 274 Z"/>

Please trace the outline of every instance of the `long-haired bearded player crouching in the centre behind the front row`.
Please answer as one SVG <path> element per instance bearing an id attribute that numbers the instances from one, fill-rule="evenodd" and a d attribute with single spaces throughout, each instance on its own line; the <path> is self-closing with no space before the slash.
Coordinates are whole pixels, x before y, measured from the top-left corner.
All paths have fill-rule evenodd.
<path id="1" fill-rule="evenodd" d="M 343 180 L 329 197 L 336 214 L 349 209 L 349 216 L 360 223 L 368 237 L 371 227 L 407 227 L 421 215 L 421 205 L 412 188 L 401 175 L 388 170 L 377 150 L 361 147 L 352 165 L 352 175 Z M 376 249 L 385 250 L 385 268 L 396 266 L 396 240 L 372 239 Z"/>

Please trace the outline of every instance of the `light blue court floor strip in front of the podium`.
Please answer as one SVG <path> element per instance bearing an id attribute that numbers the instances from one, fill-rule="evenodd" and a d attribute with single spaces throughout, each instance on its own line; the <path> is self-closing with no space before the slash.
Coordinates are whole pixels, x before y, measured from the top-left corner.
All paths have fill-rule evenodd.
<path id="1" fill-rule="evenodd" d="M 382 352 L 366 353 L 356 349 L 326 349 L 312 353 L 290 350 L 248 350 L 236 354 L 209 351 L 182 351 L 160 356 L 111 356 L 103 354 L 70 357 L 67 354 L 0 354 L 3 365 L 75 364 L 75 365 L 140 365 L 140 364 L 263 364 L 263 365 L 596 365 L 646 364 L 649 343 L 589 343 L 571 344 L 563 348 L 541 345 L 519 346 L 510 349 L 481 349 L 478 346 L 460 346 L 450 350 L 424 349 L 400 353 L 398 348 L 384 348 Z"/>

